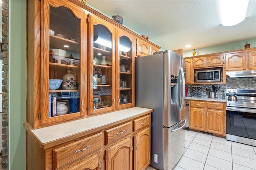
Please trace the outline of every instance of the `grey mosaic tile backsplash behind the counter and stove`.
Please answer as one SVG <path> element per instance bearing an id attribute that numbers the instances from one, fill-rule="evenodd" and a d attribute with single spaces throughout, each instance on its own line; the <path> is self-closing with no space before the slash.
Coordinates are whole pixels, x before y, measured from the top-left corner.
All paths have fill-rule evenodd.
<path id="1" fill-rule="evenodd" d="M 188 87 L 188 97 L 207 97 L 208 92 L 206 91 L 206 88 L 212 89 L 212 84 L 186 84 L 186 86 Z M 216 92 L 216 98 L 222 98 L 222 93 L 223 91 L 226 91 L 227 88 L 256 90 L 256 77 L 227 78 L 226 84 L 216 84 L 215 86 L 220 86 L 220 90 Z M 201 89 L 201 93 L 198 92 L 198 89 Z"/>

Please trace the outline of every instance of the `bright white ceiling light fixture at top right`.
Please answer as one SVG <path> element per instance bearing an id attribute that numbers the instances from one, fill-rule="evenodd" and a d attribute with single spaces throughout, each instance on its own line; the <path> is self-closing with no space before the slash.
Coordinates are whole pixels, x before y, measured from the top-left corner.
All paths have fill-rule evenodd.
<path id="1" fill-rule="evenodd" d="M 223 26 L 232 26 L 245 19 L 249 0 L 220 0 L 221 22 Z"/>

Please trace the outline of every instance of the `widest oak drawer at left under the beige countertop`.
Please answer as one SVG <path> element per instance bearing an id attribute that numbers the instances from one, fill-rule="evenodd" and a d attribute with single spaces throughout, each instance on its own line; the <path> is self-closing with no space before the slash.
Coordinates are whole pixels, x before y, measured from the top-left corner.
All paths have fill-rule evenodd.
<path id="1" fill-rule="evenodd" d="M 64 164 L 89 156 L 92 152 L 103 147 L 102 132 L 68 145 L 53 150 L 53 166 L 54 169 L 60 168 Z"/>

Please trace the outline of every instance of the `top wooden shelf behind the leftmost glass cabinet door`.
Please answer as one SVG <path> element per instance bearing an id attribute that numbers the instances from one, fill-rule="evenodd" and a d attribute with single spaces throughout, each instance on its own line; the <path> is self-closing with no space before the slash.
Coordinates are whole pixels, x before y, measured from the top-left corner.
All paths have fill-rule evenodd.
<path id="1" fill-rule="evenodd" d="M 68 45 L 68 51 L 80 52 L 80 43 L 72 41 L 66 38 L 57 37 L 56 35 L 50 35 L 50 47 L 63 49 L 63 45 Z"/>

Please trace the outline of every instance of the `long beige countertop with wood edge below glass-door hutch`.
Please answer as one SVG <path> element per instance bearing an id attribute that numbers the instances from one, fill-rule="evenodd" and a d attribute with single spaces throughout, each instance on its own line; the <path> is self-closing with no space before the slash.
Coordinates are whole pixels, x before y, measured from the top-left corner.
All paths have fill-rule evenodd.
<path id="1" fill-rule="evenodd" d="M 96 130 L 104 129 L 104 127 L 110 124 L 117 124 L 120 121 L 152 113 L 152 111 L 152 109 L 132 107 L 39 129 L 32 129 L 28 123 L 24 123 L 24 127 L 30 135 L 38 140 L 41 147 L 46 149 L 52 146 L 51 143 L 55 143 L 55 145 L 56 142 L 63 143 L 63 139 L 66 137 L 90 134 Z"/>

